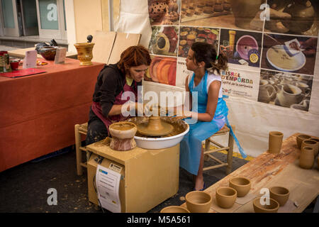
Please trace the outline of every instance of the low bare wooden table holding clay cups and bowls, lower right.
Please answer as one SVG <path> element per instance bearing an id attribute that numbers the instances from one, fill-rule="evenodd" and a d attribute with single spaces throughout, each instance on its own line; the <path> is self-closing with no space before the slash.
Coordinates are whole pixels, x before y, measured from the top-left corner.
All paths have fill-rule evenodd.
<path id="1" fill-rule="evenodd" d="M 260 189 L 272 186 L 286 187 L 290 191 L 289 201 L 285 206 L 279 208 L 279 212 L 296 213 L 306 209 L 319 194 L 319 171 L 317 170 L 316 159 L 315 165 L 310 170 L 301 169 L 298 166 L 301 150 L 296 146 L 297 135 L 298 133 L 293 134 L 283 141 L 281 153 L 274 155 L 264 152 L 208 187 L 205 192 L 213 197 L 213 204 L 209 212 L 253 213 L 252 200 L 263 195 L 259 194 Z M 229 179 L 238 176 L 250 179 L 252 188 L 249 194 L 242 197 L 242 201 L 237 199 L 232 208 L 221 209 L 216 204 L 216 189 L 218 187 L 228 187 Z M 298 207 L 294 203 L 298 204 Z M 186 203 L 182 206 L 186 207 Z"/>

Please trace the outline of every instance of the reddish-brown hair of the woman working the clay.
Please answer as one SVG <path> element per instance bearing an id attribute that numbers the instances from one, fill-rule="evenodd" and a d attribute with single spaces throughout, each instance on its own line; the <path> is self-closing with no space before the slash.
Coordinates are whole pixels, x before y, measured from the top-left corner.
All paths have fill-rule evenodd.
<path id="1" fill-rule="evenodd" d="M 125 69 L 140 65 L 150 65 L 152 59 L 150 52 L 142 45 L 133 45 L 121 53 L 121 59 L 117 63 L 118 69 L 125 73 Z"/>

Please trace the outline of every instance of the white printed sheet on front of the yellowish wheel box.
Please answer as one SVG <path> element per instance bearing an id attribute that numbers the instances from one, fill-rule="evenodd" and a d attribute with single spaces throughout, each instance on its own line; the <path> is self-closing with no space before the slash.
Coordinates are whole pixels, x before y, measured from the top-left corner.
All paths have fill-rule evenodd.
<path id="1" fill-rule="evenodd" d="M 101 206 L 113 213 L 121 213 L 119 198 L 121 174 L 98 165 L 96 168 L 96 189 Z"/>

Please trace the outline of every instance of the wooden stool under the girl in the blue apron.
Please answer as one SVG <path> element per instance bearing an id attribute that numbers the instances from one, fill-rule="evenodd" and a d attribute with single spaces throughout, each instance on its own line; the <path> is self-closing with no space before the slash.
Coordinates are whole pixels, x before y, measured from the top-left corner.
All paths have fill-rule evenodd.
<path id="1" fill-rule="evenodd" d="M 232 128 L 233 128 L 233 132 L 235 133 L 235 126 L 232 126 Z M 211 139 L 211 137 L 213 137 L 213 136 L 225 135 L 227 133 L 229 133 L 227 147 L 220 145 L 219 143 L 217 143 L 216 141 Z M 211 158 L 213 160 L 216 160 L 216 162 L 219 162 L 220 164 L 219 165 L 212 165 L 210 167 L 203 167 L 203 171 L 227 166 L 226 167 L 226 175 L 229 175 L 230 172 L 232 172 L 232 165 L 233 165 L 233 147 L 234 147 L 233 135 L 230 135 L 230 129 L 225 125 L 223 128 L 220 129 L 220 131 L 211 135 L 211 137 L 205 140 L 205 150 L 203 151 L 204 160 L 209 160 L 209 158 Z M 214 145 L 216 145 L 218 147 L 218 149 L 210 150 L 210 143 L 213 143 Z M 220 150 L 227 150 L 228 151 L 227 162 L 222 162 L 217 157 L 214 157 L 213 155 L 211 155 L 211 153 L 214 153 L 214 152 L 217 152 Z"/>

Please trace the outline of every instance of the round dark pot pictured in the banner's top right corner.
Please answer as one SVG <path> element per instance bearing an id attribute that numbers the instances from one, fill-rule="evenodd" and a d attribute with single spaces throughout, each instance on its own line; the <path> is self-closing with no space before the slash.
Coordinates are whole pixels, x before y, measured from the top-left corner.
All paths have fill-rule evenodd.
<path id="1" fill-rule="evenodd" d="M 284 20 L 281 22 L 293 33 L 303 33 L 313 26 L 315 9 L 313 9 L 310 1 L 303 4 L 294 1 L 292 4 L 286 6 L 283 12 L 289 13 L 291 19 L 289 21 Z"/>

